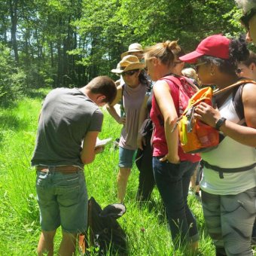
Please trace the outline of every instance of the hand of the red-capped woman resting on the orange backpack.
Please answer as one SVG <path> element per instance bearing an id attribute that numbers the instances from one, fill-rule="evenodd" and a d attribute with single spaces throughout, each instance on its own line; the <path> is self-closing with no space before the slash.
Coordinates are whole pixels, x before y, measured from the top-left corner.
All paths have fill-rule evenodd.
<path id="1" fill-rule="evenodd" d="M 217 121 L 221 118 L 221 113 L 217 108 L 212 108 L 206 102 L 201 102 L 197 105 L 194 116 L 215 128 Z"/>

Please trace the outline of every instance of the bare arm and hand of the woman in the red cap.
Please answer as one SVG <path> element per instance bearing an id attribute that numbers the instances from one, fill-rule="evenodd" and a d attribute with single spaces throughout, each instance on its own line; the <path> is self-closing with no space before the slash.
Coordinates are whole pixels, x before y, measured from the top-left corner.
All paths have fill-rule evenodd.
<path id="1" fill-rule="evenodd" d="M 245 121 L 247 126 L 241 126 L 226 120 L 221 125 L 220 130 L 230 138 L 234 139 L 243 145 L 256 147 L 256 85 L 245 84 L 242 90 L 242 102 L 245 111 Z M 202 102 L 196 108 L 196 117 L 209 124 L 212 127 L 216 126 L 216 122 L 221 118 L 221 113 L 218 109 L 212 108 L 206 103 Z"/>

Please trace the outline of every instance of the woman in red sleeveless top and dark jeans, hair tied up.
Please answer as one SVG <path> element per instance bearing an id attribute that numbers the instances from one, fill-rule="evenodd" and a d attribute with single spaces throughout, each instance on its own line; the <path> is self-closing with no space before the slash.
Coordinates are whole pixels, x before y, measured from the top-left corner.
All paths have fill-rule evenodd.
<path id="1" fill-rule="evenodd" d="M 187 84 L 187 78 L 172 73 L 175 65 L 181 62 L 175 58 L 179 51 L 177 41 L 166 41 L 145 50 L 148 75 L 153 81 L 157 81 L 153 88 L 150 114 L 155 126 L 153 169 L 175 248 L 188 242 L 195 249 L 199 233 L 197 221 L 187 205 L 187 194 L 190 177 L 200 157 L 184 154 L 178 145 L 178 131 L 171 131 L 178 118 L 177 111 L 184 111 L 180 109 L 178 88 L 182 87 L 187 95 L 186 102 L 181 100 L 184 105 L 197 88 Z"/>

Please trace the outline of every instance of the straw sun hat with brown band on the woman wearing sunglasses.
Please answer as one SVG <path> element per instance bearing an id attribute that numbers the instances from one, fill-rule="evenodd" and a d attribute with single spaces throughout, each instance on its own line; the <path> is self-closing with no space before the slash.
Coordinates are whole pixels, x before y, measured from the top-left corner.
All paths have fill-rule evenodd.
<path id="1" fill-rule="evenodd" d="M 117 69 L 112 69 L 111 72 L 116 74 L 122 74 L 123 72 L 144 69 L 145 63 L 139 62 L 139 59 L 134 55 L 124 56 L 123 59 L 117 64 Z"/>

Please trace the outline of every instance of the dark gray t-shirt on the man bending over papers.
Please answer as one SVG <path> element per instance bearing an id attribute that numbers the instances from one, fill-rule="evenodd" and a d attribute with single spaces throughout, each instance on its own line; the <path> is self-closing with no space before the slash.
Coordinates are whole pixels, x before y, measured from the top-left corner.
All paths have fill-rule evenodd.
<path id="1" fill-rule="evenodd" d="M 80 90 L 58 88 L 44 100 L 32 166 L 84 166 L 81 144 L 89 131 L 101 131 L 103 114 Z"/>

